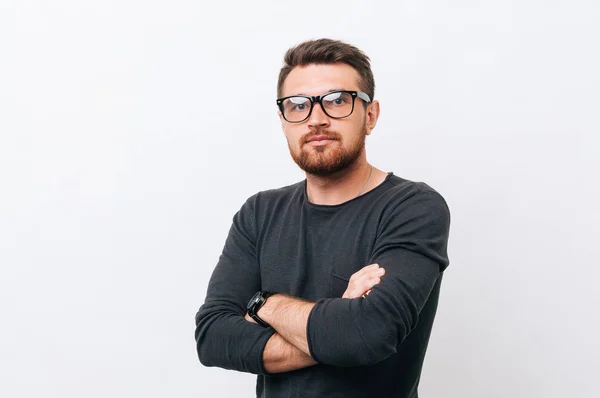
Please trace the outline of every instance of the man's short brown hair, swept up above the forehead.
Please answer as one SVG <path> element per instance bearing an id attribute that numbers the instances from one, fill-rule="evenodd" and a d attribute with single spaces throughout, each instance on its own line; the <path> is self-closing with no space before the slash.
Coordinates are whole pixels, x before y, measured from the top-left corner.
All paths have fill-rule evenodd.
<path id="1" fill-rule="evenodd" d="M 305 41 L 287 50 L 283 57 L 283 67 L 279 71 L 277 97 L 281 97 L 283 83 L 296 66 L 336 63 L 347 64 L 358 72 L 358 85 L 372 101 L 375 96 L 375 79 L 369 57 L 350 44 L 331 39 Z"/>

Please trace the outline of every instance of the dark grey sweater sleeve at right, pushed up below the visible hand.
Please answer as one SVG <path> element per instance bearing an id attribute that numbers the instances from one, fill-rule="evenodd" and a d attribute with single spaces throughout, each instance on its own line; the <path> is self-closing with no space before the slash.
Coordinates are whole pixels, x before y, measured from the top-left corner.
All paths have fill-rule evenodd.
<path id="1" fill-rule="evenodd" d="M 336 366 L 377 363 L 415 328 L 431 290 L 448 266 L 450 212 L 435 191 L 420 190 L 382 218 L 370 264 L 386 275 L 366 298 L 318 300 L 307 340 L 316 361 Z"/>

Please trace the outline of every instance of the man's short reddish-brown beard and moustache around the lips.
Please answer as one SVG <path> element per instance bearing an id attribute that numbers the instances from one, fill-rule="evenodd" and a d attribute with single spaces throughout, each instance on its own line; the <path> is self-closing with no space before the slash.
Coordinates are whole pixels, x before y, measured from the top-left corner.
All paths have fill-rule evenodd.
<path id="1" fill-rule="evenodd" d="M 310 147 L 305 145 L 315 135 L 325 135 L 333 140 L 323 146 Z M 329 176 L 352 165 L 365 148 L 367 137 L 366 120 L 361 134 L 355 140 L 348 142 L 347 147 L 343 145 L 342 136 L 335 131 L 318 131 L 315 134 L 307 134 L 299 140 L 299 150 L 294 151 L 288 143 L 290 155 L 294 162 L 308 174 L 315 176 Z"/>

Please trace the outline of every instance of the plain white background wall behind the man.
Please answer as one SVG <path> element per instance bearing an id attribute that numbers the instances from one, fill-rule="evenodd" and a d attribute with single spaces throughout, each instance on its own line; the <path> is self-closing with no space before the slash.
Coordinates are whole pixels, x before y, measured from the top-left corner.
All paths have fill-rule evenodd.
<path id="1" fill-rule="evenodd" d="M 0 396 L 251 397 L 194 315 L 231 217 L 303 178 L 287 48 L 372 59 L 369 160 L 452 211 L 421 396 L 599 396 L 597 1 L 0 1 Z M 235 106 L 236 99 L 252 106 Z"/>

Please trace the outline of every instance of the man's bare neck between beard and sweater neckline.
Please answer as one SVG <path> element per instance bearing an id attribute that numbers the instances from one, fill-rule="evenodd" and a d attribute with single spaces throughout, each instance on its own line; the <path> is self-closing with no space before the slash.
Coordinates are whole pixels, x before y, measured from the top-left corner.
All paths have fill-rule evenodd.
<path id="1" fill-rule="evenodd" d="M 315 176 L 306 174 L 306 193 L 311 203 L 319 205 L 337 205 L 354 199 L 363 189 L 362 193 L 369 191 L 374 186 L 375 168 L 365 159 L 328 176 Z M 369 180 L 369 176 L 371 179 Z M 368 184 L 365 186 L 365 183 Z"/>

